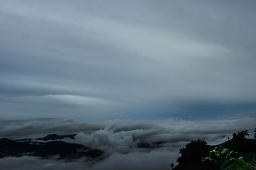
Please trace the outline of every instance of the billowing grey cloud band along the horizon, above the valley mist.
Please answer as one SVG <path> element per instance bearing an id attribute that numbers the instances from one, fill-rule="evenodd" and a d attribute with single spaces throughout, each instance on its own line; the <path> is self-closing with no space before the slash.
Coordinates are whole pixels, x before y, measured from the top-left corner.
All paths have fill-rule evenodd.
<path id="1" fill-rule="evenodd" d="M 212 134 L 223 136 L 241 129 L 252 130 L 254 126 L 255 113 L 246 115 L 229 115 L 221 120 L 197 120 L 189 121 L 182 119 L 168 120 L 110 120 L 102 123 L 76 122 L 74 120 L 60 120 L 56 118 L 45 118 L 35 120 L 1 120 L 1 138 L 38 138 L 43 134 L 79 133 L 77 142 L 92 147 L 118 146 L 116 143 L 136 142 L 136 139 L 148 143 L 163 141 L 173 143 L 175 141 L 190 141 L 194 138 L 210 138 Z M 195 135 L 195 136 L 194 136 Z M 154 138 L 156 136 L 156 138 Z M 184 137 L 185 136 L 185 137 Z M 86 138 L 84 141 L 83 139 Z M 100 139 L 104 138 L 104 139 Z M 182 140 L 182 138 L 184 138 Z M 89 140 L 90 139 L 90 140 Z M 92 139 L 92 140 L 91 140 Z M 131 140 L 133 139 L 133 140 Z M 98 141 L 99 143 L 95 142 Z M 110 140 L 110 141 L 109 141 Z M 111 141 L 112 140 L 112 141 Z M 119 142 L 120 140 L 120 142 Z M 104 142 L 100 143 L 100 142 Z M 115 143 L 116 142 L 116 143 Z M 108 145 L 106 144 L 108 143 Z M 129 146 L 127 143 L 125 145 Z M 132 145 L 131 145 L 132 146 Z"/>

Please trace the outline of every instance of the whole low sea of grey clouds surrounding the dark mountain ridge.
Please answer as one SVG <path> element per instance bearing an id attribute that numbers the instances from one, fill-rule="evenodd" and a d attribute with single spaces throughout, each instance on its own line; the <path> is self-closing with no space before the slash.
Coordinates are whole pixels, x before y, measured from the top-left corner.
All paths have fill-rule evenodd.
<path id="1" fill-rule="evenodd" d="M 95 162 L 85 159 L 65 161 L 38 157 L 6 157 L 0 169 L 170 169 L 179 157 L 179 149 L 192 139 L 205 139 L 214 145 L 232 137 L 232 133 L 248 129 L 253 134 L 255 113 L 236 115 L 221 120 L 111 120 L 100 123 L 74 120 L 36 119 L 0 120 L 0 138 L 38 138 L 46 134 L 74 134 L 79 143 L 105 152 Z M 140 144 L 152 146 L 141 148 Z"/>

